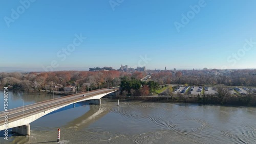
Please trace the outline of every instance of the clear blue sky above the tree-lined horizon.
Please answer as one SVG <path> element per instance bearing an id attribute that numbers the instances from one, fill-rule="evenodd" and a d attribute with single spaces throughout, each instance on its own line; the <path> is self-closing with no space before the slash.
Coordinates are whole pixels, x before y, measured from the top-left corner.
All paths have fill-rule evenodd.
<path id="1" fill-rule="evenodd" d="M 42 69 L 54 61 L 57 68 L 256 68 L 255 6 L 254 0 L 3 0 L 0 67 Z M 79 44 L 68 51 L 74 39 Z"/>

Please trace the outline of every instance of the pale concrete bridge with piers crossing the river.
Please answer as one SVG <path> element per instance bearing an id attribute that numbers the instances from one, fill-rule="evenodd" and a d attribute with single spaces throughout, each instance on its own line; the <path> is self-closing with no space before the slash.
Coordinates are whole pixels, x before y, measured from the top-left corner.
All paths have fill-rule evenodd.
<path id="1" fill-rule="evenodd" d="M 100 98 L 117 90 L 117 88 L 92 90 L 2 111 L 0 112 L 0 130 L 12 128 L 12 132 L 30 135 L 29 124 L 36 119 L 77 102 L 89 101 L 90 104 L 101 104 Z"/>

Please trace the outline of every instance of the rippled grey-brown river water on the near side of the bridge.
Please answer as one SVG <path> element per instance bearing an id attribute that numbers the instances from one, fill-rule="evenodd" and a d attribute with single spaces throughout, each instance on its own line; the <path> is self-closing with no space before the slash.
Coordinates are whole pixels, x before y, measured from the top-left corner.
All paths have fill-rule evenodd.
<path id="1" fill-rule="evenodd" d="M 102 99 L 31 123 L 30 136 L 0 143 L 255 143 L 256 108 Z M 2 135 L 2 133 L 1 133 Z"/>

